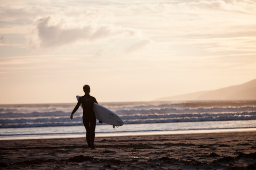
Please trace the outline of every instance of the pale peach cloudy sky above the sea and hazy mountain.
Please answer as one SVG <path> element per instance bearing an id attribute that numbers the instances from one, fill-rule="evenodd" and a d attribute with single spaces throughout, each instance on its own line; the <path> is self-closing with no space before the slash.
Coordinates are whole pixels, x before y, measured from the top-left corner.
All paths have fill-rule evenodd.
<path id="1" fill-rule="evenodd" d="M 0 0 L 0 104 L 156 98 L 256 79 L 256 1 Z"/>

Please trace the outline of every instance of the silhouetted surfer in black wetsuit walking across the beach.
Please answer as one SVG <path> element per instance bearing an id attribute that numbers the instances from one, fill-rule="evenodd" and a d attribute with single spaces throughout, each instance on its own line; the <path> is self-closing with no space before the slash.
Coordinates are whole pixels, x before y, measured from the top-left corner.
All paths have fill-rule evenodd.
<path id="1" fill-rule="evenodd" d="M 95 127 L 96 127 L 96 116 L 93 111 L 93 103 L 97 103 L 97 100 L 90 96 L 91 88 L 89 85 L 84 85 L 84 96 L 78 99 L 78 102 L 70 115 L 71 120 L 73 119 L 73 114 L 77 111 L 79 106 L 83 106 L 83 124 L 86 129 L 86 141 L 89 147 L 95 149 L 94 138 L 95 138 Z"/>

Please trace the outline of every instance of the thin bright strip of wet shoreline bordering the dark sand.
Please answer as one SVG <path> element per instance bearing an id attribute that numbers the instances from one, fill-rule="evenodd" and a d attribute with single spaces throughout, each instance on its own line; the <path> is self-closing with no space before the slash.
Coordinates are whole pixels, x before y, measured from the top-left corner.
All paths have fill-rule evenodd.
<path id="1" fill-rule="evenodd" d="M 132 135 L 197 134 L 197 133 L 225 133 L 225 132 L 250 132 L 250 131 L 256 131 L 256 128 L 95 133 L 95 137 L 124 137 L 124 136 L 132 136 Z M 0 141 L 1 140 L 84 138 L 85 134 L 86 133 L 13 135 L 13 136 L 9 135 L 9 136 L 1 137 Z"/>

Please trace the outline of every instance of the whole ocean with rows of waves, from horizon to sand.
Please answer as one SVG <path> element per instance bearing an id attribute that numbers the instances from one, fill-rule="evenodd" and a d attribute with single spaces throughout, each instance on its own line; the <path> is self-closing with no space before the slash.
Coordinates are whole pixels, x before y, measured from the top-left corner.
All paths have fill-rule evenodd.
<path id="1" fill-rule="evenodd" d="M 0 105 L 0 140 L 85 137 L 82 108 L 73 104 Z M 97 122 L 96 137 L 256 128 L 256 101 L 147 101 L 100 103 L 124 125 Z"/>

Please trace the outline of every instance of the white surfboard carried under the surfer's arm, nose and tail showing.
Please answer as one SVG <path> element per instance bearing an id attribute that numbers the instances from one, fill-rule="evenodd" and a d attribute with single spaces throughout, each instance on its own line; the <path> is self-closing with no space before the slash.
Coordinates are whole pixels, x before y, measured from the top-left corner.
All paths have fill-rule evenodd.
<path id="1" fill-rule="evenodd" d="M 77 101 L 79 97 L 81 96 L 76 96 Z M 82 104 L 80 106 L 83 108 Z M 115 128 L 115 126 L 122 126 L 124 124 L 121 117 L 97 103 L 93 103 L 93 111 L 95 112 L 95 116 L 99 121 L 113 125 L 113 128 Z"/>

